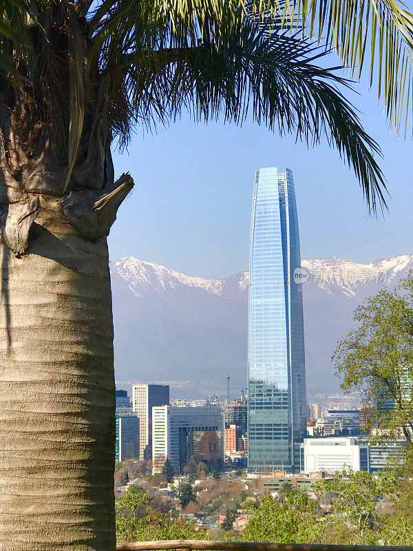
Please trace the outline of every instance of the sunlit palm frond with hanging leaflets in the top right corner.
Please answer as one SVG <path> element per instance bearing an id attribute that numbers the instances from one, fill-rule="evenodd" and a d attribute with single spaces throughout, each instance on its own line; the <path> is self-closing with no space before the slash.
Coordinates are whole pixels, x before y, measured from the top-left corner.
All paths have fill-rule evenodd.
<path id="1" fill-rule="evenodd" d="M 399 132 L 413 77 L 410 8 L 399 0 L 293 0 L 290 9 L 301 14 L 306 34 L 325 41 L 357 79 L 366 66 L 368 83 L 376 84 Z"/>

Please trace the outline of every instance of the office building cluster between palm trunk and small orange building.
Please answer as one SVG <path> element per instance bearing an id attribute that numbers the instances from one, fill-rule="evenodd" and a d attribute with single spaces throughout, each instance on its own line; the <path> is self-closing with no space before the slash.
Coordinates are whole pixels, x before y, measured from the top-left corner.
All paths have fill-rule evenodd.
<path id="1" fill-rule="evenodd" d="M 162 472 L 167 458 L 177 475 L 191 460 L 222 468 L 225 437 L 216 398 L 170 401 L 169 386 L 159 384 L 134 384 L 131 399 L 116 391 L 116 461 L 151 460 L 153 474 Z"/>

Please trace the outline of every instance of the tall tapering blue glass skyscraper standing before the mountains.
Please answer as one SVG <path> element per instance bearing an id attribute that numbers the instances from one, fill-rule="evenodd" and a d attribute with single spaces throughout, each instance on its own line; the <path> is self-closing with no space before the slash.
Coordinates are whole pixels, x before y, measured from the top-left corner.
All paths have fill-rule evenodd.
<path id="1" fill-rule="evenodd" d="M 306 417 L 293 173 L 255 174 L 248 309 L 248 471 L 299 468 Z"/>

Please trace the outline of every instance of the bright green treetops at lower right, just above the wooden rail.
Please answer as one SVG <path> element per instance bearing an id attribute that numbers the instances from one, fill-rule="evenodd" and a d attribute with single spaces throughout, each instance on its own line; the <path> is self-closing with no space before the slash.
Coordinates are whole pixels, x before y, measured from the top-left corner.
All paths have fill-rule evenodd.
<path id="1" fill-rule="evenodd" d="M 328 497 L 329 502 L 327 514 L 320 507 L 324 497 Z M 377 476 L 346 469 L 336 472 L 335 479 L 321 479 L 313 492 L 291 488 L 286 495 L 263 495 L 257 508 L 250 502 L 244 506 L 244 512 L 251 514 L 251 520 L 236 539 L 330 545 L 412 545 L 412 508 L 408 501 L 411 497 L 410 477 L 400 478 L 394 471 Z M 389 508 L 380 511 L 377 500 L 384 498 L 388 499 Z"/>

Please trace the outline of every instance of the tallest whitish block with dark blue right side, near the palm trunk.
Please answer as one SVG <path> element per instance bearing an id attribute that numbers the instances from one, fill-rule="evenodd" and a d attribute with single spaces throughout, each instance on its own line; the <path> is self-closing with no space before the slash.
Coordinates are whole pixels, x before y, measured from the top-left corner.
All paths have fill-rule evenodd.
<path id="1" fill-rule="evenodd" d="M 140 422 L 139 459 L 151 459 L 152 408 L 169 404 L 169 386 L 165 384 L 134 384 L 132 405 Z"/>

